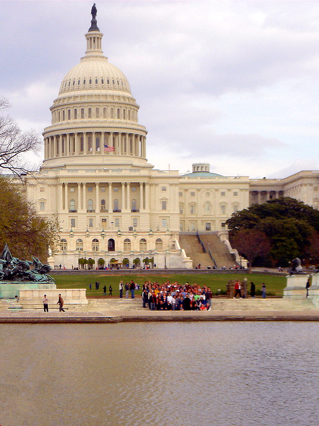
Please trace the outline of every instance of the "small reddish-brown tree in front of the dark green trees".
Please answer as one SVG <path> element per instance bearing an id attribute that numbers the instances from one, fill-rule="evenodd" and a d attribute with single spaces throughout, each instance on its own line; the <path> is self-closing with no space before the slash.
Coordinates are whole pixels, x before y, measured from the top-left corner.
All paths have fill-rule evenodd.
<path id="1" fill-rule="evenodd" d="M 267 236 L 260 231 L 242 229 L 231 236 L 231 245 L 240 255 L 245 256 L 249 262 L 249 272 L 253 260 L 258 256 L 265 256 L 270 250 Z"/>

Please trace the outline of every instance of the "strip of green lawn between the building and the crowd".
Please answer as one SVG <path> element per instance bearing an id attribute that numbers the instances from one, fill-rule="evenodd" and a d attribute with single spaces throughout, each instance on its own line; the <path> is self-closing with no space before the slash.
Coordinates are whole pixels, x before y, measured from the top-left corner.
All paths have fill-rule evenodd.
<path id="1" fill-rule="evenodd" d="M 113 296 L 119 297 L 119 283 L 123 280 L 125 282 L 130 281 L 131 279 L 137 284 L 142 285 L 144 281 L 151 280 L 151 282 L 157 281 L 159 283 L 166 282 L 169 280 L 170 282 L 177 281 L 180 284 L 185 284 L 188 282 L 189 284 L 198 284 L 201 287 L 203 285 L 210 286 L 213 293 L 220 288 L 222 291 L 226 291 L 226 284 L 230 279 L 241 279 L 243 280 L 247 277 L 247 288 L 250 289 L 250 282 L 253 281 L 256 285 L 256 291 L 260 290 L 262 287 L 262 283 L 265 282 L 267 288 L 267 294 L 272 296 L 282 296 L 283 289 L 286 287 L 286 277 L 285 276 L 277 276 L 277 275 L 259 275 L 259 274 L 249 274 L 246 275 L 236 275 L 232 273 L 227 274 L 201 274 L 201 275 L 193 275 L 193 274 L 165 274 L 165 275 L 100 275 L 98 272 L 94 275 L 87 274 L 65 274 L 65 275 L 53 275 L 55 279 L 57 288 L 86 288 L 86 295 L 91 297 L 103 297 L 103 287 L 106 285 L 107 295 L 108 295 L 108 286 L 111 284 L 113 288 Z M 100 289 L 95 290 L 95 281 L 100 282 Z M 92 290 L 89 290 L 89 284 L 92 285 Z M 141 291 L 136 291 L 136 295 L 140 295 Z M 258 294 L 258 293 L 257 293 Z M 108 296 L 106 296 L 108 297 Z M 110 296 L 111 297 L 111 296 Z"/>

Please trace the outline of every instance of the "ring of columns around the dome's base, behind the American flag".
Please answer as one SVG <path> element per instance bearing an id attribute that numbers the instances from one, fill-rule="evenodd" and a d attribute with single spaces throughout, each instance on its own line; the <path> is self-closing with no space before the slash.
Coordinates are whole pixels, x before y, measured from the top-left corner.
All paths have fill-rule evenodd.
<path id="1" fill-rule="evenodd" d="M 104 145 L 114 147 L 114 151 L 105 151 Z M 128 132 L 73 132 L 44 138 L 45 159 L 80 154 L 146 158 L 146 136 Z"/>

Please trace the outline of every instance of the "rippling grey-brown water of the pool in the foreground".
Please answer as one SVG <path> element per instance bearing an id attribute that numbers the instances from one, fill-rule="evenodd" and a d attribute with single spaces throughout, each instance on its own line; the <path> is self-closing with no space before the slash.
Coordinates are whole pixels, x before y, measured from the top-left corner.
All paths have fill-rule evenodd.
<path id="1" fill-rule="evenodd" d="M 310 426 L 314 322 L 0 325 L 0 424 Z"/>

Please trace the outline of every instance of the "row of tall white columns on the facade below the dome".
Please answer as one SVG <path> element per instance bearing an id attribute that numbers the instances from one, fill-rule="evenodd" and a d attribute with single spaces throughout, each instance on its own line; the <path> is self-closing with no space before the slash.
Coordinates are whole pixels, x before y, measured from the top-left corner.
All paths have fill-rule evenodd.
<path id="1" fill-rule="evenodd" d="M 108 212 L 113 212 L 113 201 L 115 199 L 112 198 L 112 182 L 103 182 L 103 186 L 108 185 Z M 131 196 L 130 196 L 130 182 L 121 182 L 122 186 L 121 191 L 121 210 L 131 210 Z M 82 190 L 81 190 L 82 185 Z M 126 185 L 126 197 L 125 197 L 125 185 Z M 73 184 L 72 184 L 73 186 Z M 76 210 L 88 210 L 87 204 L 87 193 L 86 186 L 94 187 L 95 186 L 95 213 L 100 213 L 101 199 L 100 196 L 100 183 L 97 182 L 95 184 L 91 183 L 77 183 L 77 209 Z M 116 184 L 116 187 L 118 184 Z M 149 210 L 150 209 L 150 185 L 147 182 L 140 182 L 140 210 Z M 69 209 L 69 197 L 68 197 L 68 184 L 60 183 L 58 186 L 59 192 L 59 206 L 61 210 Z M 105 194 L 106 195 L 106 194 Z M 93 196 L 93 194 L 92 194 Z M 126 204 L 125 204 L 126 198 Z M 71 200 L 70 196 L 70 200 Z M 91 199 L 91 198 L 88 198 Z M 83 201 L 83 204 L 82 204 Z"/>

